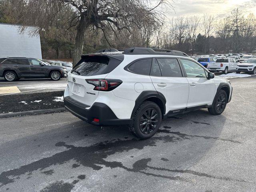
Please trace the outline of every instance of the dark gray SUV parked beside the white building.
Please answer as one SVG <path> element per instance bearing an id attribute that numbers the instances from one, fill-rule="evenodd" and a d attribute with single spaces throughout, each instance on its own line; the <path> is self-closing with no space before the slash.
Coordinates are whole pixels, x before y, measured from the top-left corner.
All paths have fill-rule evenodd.
<path id="1" fill-rule="evenodd" d="M 20 78 L 51 78 L 56 81 L 67 77 L 67 73 L 66 67 L 52 66 L 34 58 L 0 58 L 0 77 L 4 77 L 6 81 Z"/>

